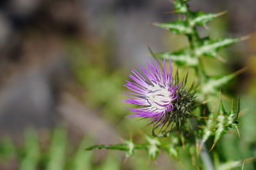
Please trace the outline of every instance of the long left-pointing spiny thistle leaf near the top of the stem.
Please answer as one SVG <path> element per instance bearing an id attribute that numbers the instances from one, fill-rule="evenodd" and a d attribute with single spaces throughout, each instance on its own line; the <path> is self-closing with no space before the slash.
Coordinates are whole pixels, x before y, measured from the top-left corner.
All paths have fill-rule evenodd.
<path id="1" fill-rule="evenodd" d="M 191 34 L 193 30 L 186 20 L 177 20 L 175 22 L 158 23 L 154 22 L 153 25 L 173 31 L 175 34 Z"/>

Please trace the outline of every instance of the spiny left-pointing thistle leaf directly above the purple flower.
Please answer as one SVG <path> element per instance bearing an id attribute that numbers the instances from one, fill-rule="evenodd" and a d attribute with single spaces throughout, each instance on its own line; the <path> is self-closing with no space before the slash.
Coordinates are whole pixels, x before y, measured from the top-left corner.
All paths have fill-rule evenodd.
<path id="1" fill-rule="evenodd" d="M 197 66 L 198 64 L 198 58 L 193 57 L 189 50 L 181 50 L 179 52 L 156 53 L 155 55 L 160 59 L 172 59 L 172 61 L 175 62 L 178 66 Z"/>

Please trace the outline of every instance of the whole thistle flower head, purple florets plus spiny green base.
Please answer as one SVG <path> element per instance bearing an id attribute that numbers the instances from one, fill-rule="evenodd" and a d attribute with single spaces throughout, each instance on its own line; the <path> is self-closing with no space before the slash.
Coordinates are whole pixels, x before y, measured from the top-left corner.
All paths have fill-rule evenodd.
<path id="1" fill-rule="evenodd" d="M 152 60 L 146 62 L 147 69 L 140 66 L 143 74 L 135 69 L 129 75 L 132 81 L 124 85 L 130 91 L 124 91 L 127 104 L 136 104 L 138 108 L 128 108 L 134 114 L 127 118 L 140 117 L 148 118 L 154 129 L 165 126 L 166 129 L 180 129 L 191 116 L 195 104 L 195 93 L 192 94 L 192 87 L 186 91 L 185 85 L 187 76 L 179 82 L 178 73 L 173 76 L 172 62 L 166 67 L 163 62 Z M 183 106 L 182 106 L 183 105 Z"/>

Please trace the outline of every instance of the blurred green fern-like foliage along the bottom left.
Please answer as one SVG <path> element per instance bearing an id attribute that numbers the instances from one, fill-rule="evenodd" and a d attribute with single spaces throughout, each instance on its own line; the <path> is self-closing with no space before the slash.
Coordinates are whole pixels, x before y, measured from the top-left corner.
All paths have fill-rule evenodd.
<path id="1" fill-rule="evenodd" d="M 0 169 L 12 167 L 16 164 L 20 170 L 36 169 L 72 169 L 72 170 L 119 170 L 127 169 L 148 169 L 145 166 L 147 158 L 140 156 L 131 160 L 131 163 L 124 162 L 119 153 L 109 152 L 103 159 L 97 159 L 93 152 L 84 150 L 92 145 L 93 140 L 84 136 L 79 143 L 71 143 L 67 138 L 67 128 L 63 126 L 56 127 L 47 141 L 45 133 L 39 136 L 33 128 L 28 128 L 24 132 L 24 141 L 22 145 L 15 145 L 10 138 L 0 140 Z M 44 141 L 44 142 L 43 142 Z M 13 162 L 13 160 L 15 160 Z M 157 169 L 150 166 L 150 169 Z"/>

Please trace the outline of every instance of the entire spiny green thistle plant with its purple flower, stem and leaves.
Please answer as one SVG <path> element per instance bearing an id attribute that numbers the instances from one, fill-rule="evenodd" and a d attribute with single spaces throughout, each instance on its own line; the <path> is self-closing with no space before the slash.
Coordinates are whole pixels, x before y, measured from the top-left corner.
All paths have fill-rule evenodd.
<path id="1" fill-rule="evenodd" d="M 186 150 L 193 166 L 197 169 L 242 166 L 239 160 L 220 163 L 218 157 L 214 156 L 217 153 L 209 150 L 214 150 L 215 144 L 229 129 L 236 129 L 239 135 L 237 127 L 239 99 L 236 99 L 236 104 L 232 104 L 231 109 L 227 111 L 221 101 L 220 89 L 244 69 L 214 77 L 205 72 L 202 58 L 209 57 L 223 61 L 218 51 L 247 37 L 217 40 L 209 36 L 201 38 L 196 27 L 205 26 L 223 13 L 191 11 L 188 1 L 173 2 L 175 8 L 173 13 L 183 15 L 182 19 L 152 24 L 175 34 L 186 35 L 189 45 L 176 52 L 153 53 L 149 49 L 154 59 L 146 61 L 146 67 L 140 66 L 140 70 L 132 69 L 129 75 L 131 80 L 124 85 L 127 88 L 124 92 L 127 99 L 124 99 L 124 102 L 136 106 L 136 108 L 128 108 L 131 115 L 127 118 L 147 119 L 152 125 L 152 134 L 145 136 L 146 143 L 134 143 L 130 139 L 116 145 L 94 145 L 86 150 L 101 148 L 124 150 L 127 157 L 131 156 L 134 150 L 146 150 L 152 159 L 156 159 L 158 153 L 164 150 L 170 157 L 179 161 L 182 150 Z M 187 85 L 189 73 L 179 80 L 179 71 L 173 74 L 172 62 L 178 67 L 186 66 L 194 69 L 196 75 L 194 83 Z M 220 107 L 214 109 L 216 105 Z"/>

